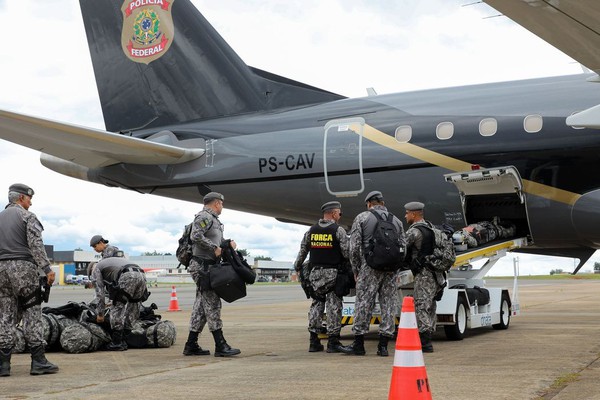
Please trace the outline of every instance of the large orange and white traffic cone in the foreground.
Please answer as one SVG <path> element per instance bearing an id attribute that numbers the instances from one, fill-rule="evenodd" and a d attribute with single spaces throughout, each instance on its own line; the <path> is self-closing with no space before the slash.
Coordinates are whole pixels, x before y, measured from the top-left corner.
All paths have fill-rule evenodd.
<path id="1" fill-rule="evenodd" d="M 398 338 L 394 353 L 394 367 L 388 400 L 431 400 L 429 379 L 425 370 L 415 302 L 410 296 L 402 301 Z"/>

